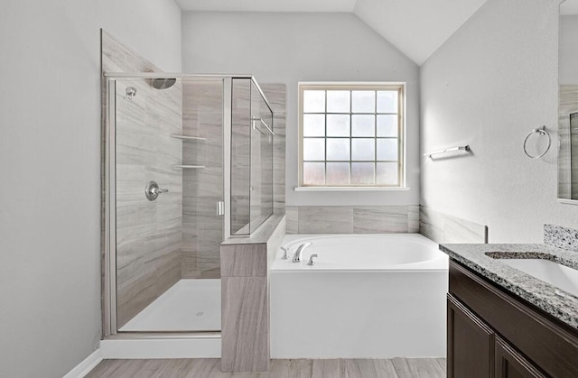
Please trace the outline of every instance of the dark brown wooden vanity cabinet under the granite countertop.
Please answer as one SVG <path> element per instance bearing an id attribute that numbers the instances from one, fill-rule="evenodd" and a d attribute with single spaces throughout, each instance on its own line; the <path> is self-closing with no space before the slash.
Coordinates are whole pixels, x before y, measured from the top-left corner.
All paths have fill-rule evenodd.
<path id="1" fill-rule="evenodd" d="M 450 263 L 451 378 L 578 377 L 578 331 Z"/>

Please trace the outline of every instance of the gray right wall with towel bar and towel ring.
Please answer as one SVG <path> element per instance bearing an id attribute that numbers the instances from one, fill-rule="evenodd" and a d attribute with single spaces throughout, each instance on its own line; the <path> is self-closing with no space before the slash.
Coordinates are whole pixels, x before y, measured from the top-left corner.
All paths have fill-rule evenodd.
<path id="1" fill-rule="evenodd" d="M 558 2 L 489 0 L 421 70 L 420 203 L 489 227 L 489 243 L 540 242 L 545 223 L 578 226 L 556 201 Z M 545 124 L 553 145 L 531 160 L 522 143 Z"/>

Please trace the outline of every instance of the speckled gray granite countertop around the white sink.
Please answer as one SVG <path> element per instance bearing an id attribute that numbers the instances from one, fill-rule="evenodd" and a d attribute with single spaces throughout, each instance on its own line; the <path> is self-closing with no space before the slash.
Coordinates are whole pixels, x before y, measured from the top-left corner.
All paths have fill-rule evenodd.
<path id="1" fill-rule="evenodd" d="M 545 258 L 578 269 L 578 254 L 550 244 L 440 244 L 440 249 L 472 271 L 578 329 L 578 297 L 518 271 L 499 258 Z"/>

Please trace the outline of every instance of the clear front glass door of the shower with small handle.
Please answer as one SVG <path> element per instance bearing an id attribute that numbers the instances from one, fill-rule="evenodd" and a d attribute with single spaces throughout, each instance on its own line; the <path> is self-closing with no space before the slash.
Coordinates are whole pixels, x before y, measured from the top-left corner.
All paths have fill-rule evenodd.
<path id="1" fill-rule="evenodd" d="M 219 331 L 223 79 L 113 82 L 117 330 Z"/>

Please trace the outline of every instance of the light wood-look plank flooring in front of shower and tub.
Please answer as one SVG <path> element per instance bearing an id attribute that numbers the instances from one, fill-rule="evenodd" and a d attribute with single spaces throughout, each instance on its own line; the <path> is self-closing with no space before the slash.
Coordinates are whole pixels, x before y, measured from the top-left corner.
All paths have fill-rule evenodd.
<path id="1" fill-rule="evenodd" d="M 87 378 L 444 378 L 445 358 L 271 360 L 266 373 L 221 373 L 219 358 L 104 360 Z"/>

